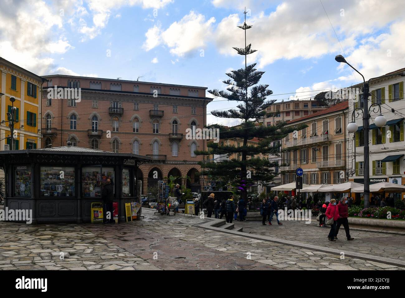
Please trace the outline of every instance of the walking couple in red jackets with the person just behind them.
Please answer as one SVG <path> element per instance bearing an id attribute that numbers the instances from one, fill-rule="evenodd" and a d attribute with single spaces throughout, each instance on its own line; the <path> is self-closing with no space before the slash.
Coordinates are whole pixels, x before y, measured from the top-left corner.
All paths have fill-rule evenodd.
<path id="1" fill-rule="evenodd" d="M 349 221 L 347 219 L 349 217 L 348 208 L 350 200 L 353 202 L 352 197 L 343 197 L 340 199 L 339 204 L 337 204 L 336 199 L 331 199 L 330 202 L 325 202 L 320 208 L 319 226 L 326 227 L 326 220 L 329 221 L 329 241 L 337 240 L 337 234 L 339 233 L 341 225 L 345 228 L 347 240 L 354 240 L 354 238 L 350 236 Z"/>

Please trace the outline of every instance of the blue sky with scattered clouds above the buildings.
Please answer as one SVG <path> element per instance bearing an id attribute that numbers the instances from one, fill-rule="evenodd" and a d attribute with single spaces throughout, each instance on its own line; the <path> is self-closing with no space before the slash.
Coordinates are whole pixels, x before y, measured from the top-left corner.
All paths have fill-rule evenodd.
<path id="1" fill-rule="evenodd" d="M 322 1 L 322 2 L 321 2 Z M 2 0 L 0 56 L 38 75 L 72 74 L 224 88 L 258 51 L 272 99 L 308 98 L 405 67 L 403 0 Z M 234 107 L 210 103 L 208 110 Z M 235 124 L 209 116 L 208 123 Z"/>

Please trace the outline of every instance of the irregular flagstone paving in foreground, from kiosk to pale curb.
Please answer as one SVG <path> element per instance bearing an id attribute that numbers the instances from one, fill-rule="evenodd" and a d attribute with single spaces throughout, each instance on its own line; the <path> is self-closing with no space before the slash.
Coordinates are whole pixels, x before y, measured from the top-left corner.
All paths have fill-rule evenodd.
<path id="1" fill-rule="evenodd" d="M 180 214 L 161 216 L 147 209 L 143 209 L 143 215 L 145 219 L 141 221 L 118 225 L 26 225 L 1 222 L 0 269 L 404 269 L 351 257 L 340 259 L 340 255 L 333 253 L 310 251 L 203 229 L 197 226 L 204 222 L 198 217 L 183 217 Z M 237 222 L 237 225 L 239 224 L 245 225 L 246 222 Z M 248 224 L 252 224 L 252 227 L 258 226 L 260 233 L 260 222 Z M 299 223 L 297 227 L 298 225 Z M 291 226 L 267 227 L 282 228 L 286 237 L 290 237 L 288 239 L 297 240 L 294 235 L 301 237 L 304 232 L 293 231 L 289 229 Z M 302 226 L 302 229 L 305 228 L 307 227 Z M 309 227 L 314 229 L 314 233 L 315 228 Z M 261 231 L 265 232 L 267 231 Z M 322 243 L 328 245 L 324 240 L 315 244 Z M 356 243 L 359 244 L 360 241 Z M 355 243 L 350 245 L 356 246 Z M 64 258 L 61 257 L 61 252 L 64 253 Z"/>

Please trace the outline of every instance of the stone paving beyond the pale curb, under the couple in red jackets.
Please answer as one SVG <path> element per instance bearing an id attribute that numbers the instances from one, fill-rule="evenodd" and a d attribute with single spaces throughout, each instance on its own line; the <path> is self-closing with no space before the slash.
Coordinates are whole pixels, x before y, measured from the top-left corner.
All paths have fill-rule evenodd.
<path id="1" fill-rule="evenodd" d="M 330 227 L 318 227 L 319 222 L 315 217 L 312 217 L 309 224 L 306 224 L 305 221 L 281 222 L 283 225 L 279 226 L 273 218 L 273 225 L 264 226 L 261 221 L 236 221 L 235 227 L 243 227 L 245 233 L 405 260 L 405 235 L 351 229 L 350 236 L 354 240 L 347 241 L 342 225 L 339 229 L 338 240 L 331 242 L 327 238 Z"/>

